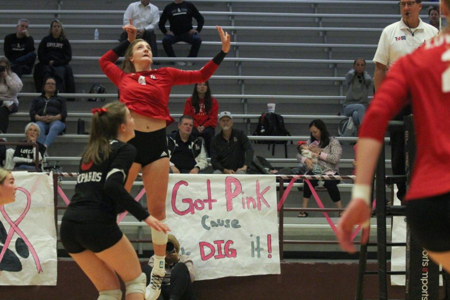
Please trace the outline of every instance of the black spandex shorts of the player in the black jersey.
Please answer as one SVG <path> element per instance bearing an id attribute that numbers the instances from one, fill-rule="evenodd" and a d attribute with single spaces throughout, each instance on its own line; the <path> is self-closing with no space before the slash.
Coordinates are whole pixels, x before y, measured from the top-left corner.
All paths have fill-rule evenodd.
<path id="1" fill-rule="evenodd" d="M 59 235 L 68 253 L 79 253 L 84 250 L 106 250 L 118 242 L 123 233 L 115 220 L 78 222 L 62 219 Z"/>

